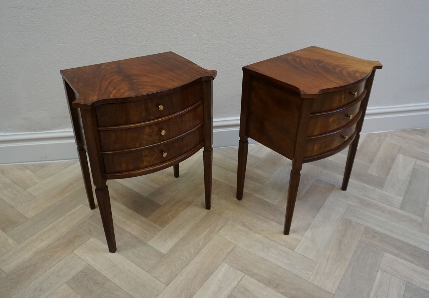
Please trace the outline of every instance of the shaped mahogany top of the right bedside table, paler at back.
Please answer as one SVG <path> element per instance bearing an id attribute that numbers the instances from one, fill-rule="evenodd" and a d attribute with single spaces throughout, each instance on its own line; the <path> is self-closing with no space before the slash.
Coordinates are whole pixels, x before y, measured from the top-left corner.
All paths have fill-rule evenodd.
<path id="1" fill-rule="evenodd" d="M 243 67 L 254 75 L 283 84 L 302 98 L 316 98 L 365 80 L 378 61 L 369 61 L 315 46 Z"/>

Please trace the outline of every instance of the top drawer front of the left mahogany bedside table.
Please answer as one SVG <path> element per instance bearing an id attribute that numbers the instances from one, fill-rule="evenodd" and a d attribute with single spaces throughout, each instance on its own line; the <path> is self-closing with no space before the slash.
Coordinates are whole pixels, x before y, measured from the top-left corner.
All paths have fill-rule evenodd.
<path id="1" fill-rule="evenodd" d="M 196 82 L 167 95 L 117 104 L 102 104 L 96 107 L 97 121 L 101 127 L 144 122 L 177 113 L 201 100 L 201 83 Z"/>

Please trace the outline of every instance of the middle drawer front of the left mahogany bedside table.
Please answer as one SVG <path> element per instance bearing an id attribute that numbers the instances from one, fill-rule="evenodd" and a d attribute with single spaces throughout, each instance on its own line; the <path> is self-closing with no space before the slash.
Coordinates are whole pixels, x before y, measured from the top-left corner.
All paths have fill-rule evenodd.
<path id="1" fill-rule="evenodd" d="M 163 121 L 115 130 L 100 130 L 103 151 L 138 148 L 177 137 L 203 122 L 202 104 Z"/>

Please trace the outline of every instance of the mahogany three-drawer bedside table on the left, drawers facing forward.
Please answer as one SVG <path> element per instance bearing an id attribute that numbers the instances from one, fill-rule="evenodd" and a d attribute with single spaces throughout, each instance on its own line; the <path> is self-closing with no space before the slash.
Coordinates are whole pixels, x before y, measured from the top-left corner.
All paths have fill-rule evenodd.
<path id="1" fill-rule="evenodd" d="M 86 193 L 91 164 L 109 251 L 116 251 L 106 179 L 167 167 L 204 148 L 205 207 L 211 207 L 212 80 L 217 72 L 166 52 L 61 71 Z"/>

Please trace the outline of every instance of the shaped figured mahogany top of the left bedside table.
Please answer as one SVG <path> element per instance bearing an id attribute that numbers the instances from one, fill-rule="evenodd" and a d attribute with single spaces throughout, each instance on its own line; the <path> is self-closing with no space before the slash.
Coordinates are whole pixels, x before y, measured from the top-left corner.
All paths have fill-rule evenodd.
<path id="1" fill-rule="evenodd" d="M 173 52 L 63 69 L 60 73 L 79 94 L 73 107 L 86 109 L 124 98 L 167 94 L 193 81 L 214 80 L 217 74 Z"/>

